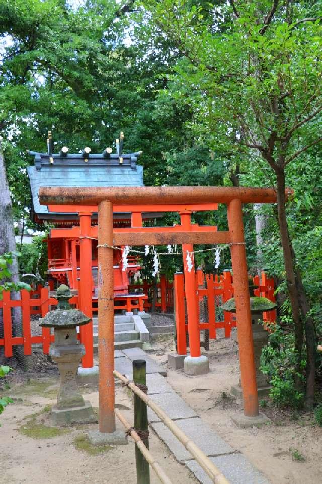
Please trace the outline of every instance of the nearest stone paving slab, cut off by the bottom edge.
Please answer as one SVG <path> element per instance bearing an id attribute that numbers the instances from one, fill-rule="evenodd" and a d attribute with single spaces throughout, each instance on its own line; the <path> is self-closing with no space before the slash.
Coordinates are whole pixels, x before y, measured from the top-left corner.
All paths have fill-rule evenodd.
<path id="1" fill-rule="evenodd" d="M 243 454 L 220 455 L 210 460 L 228 479 L 230 484 L 271 484 L 269 480 L 251 464 Z M 202 484 L 213 484 L 196 460 L 187 460 L 186 467 Z"/>

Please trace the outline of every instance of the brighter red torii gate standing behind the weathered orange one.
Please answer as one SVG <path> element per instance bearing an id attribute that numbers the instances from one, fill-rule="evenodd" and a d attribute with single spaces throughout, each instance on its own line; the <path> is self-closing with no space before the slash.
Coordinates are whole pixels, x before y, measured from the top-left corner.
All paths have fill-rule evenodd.
<path id="1" fill-rule="evenodd" d="M 164 233 L 178 233 L 185 231 L 187 233 L 193 231 L 195 234 L 209 234 L 217 231 L 216 226 L 199 226 L 198 224 L 191 224 L 192 212 L 217 210 L 217 203 L 202 203 L 202 204 L 167 204 L 167 205 L 114 205 L 113 213 L 125 212 L 131 214 L 131 227 L 114 227 L 114 237 L 130 234 L 130 241 L 123 242 L 122 245 L 141 245 L 139 241 L 133 242 L 133 236 L 137 234 L 158 234 L 162 230 Z M 92 291 L 89 281 L 92 279 L 92 262 L 91 262 L 91 239 L 98 238 L 98 227 L 91 226 L 91 217 L 93 213 L 98 212 L 97 206 L 70 206 L 70 205 L 49 205 L 49 212 L 70 213 L 77 212 L 79 215 L 79 226 L 71 228 L 55 228 L 50 230 L 50 239 L 71 239 L 74 242 L 79 240 L 80 245 L 80 281 L 79 281 L 79 308 L 89 318 L 92 318 Z M 143 227 L 142 213 L 154 212 L 178 212 L 180 214 L 181 225 L 172 227 Z M 141 240 L 141 239 L 140 239 Z M 196 243 L 196 242 L 195 242 Z M 201 237 L 199 243 L 204 243 Z M 145 244 L 144 244 L 145 245 Z M 156 244 L 149 244 L 156 245 Z M 183 244 L 183 251 L 188 250 L 193 252 L 192 244 Z M 73 254 L 72 257 L 73 259 Z M 184 264 L 185 267 L 185 264 Z M 72 270 L 75 270 L 75 261 L 72 260 Z M 200 333 L 198 328 L 198 302 L 194 297 L 196 294 L 194 271 L 188 272 L 186 267 L 185 281 L 187 291 L 187 313 L 189 331 L 191 331 L 190 354 L 193 357 L 200 356 Z M 191 297 L 189 297 L 189 295 Z M 85 346 L 85 355 L 82 358 L 83 368 L 93 367 L 93 324 L 90 322 L 85 326 L 81 326 L 81 342 Z"/>

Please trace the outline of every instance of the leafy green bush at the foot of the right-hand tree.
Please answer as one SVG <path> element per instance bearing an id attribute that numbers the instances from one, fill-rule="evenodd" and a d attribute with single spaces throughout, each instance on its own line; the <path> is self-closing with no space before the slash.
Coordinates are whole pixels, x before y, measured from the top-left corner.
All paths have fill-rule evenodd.
<path id="1" fill-rule="evenodd" d="M 303 404 L 304 392 L 295 387 L 296 354 L 294 352 L 294 335 L 285 333 L 278 325 L 272 326 L 268 345 L 261 355 L 261 371 L 268 375 L 272 389 L 270 397 L 281 407 L 300 407 Z M 305 368 L 305 361 L 301 368 Z M 304 381 L 302 373 L 297 376 Z"/>

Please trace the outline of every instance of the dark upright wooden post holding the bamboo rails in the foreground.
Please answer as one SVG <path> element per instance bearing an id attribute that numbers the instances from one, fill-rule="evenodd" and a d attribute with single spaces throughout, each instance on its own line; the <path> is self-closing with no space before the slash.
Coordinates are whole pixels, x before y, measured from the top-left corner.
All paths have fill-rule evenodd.
<path id="1" fill-rule="evenodd" d="M 146 388 L 146 362 L 145 360 L 133 360 L 133 382 L 147 393 Z M 147 405 L 134 393 L 134 428 L 141 437 L 145 447 L 149 448 Z M 141 451 L 135 446 L 135 465 L 137 484 L 150 484 L 150 466 L 143 457 Z"/>

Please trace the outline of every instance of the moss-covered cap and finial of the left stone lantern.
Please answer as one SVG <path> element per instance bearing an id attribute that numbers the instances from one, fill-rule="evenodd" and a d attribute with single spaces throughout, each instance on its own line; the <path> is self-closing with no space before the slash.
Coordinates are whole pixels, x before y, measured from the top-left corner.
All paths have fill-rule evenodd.
<path id="1" fill-rule="evenodd" d="M 69 304 L 71 291 L 68 286 L 61 284 L 57 289 L 57 309 L 49 311 L 46 316 L 40 319 L 40 326 L 43 328 L 67 329 L 76 326 L 83 326 L 91 321 L 79 309 L 73 309 Z"/>

